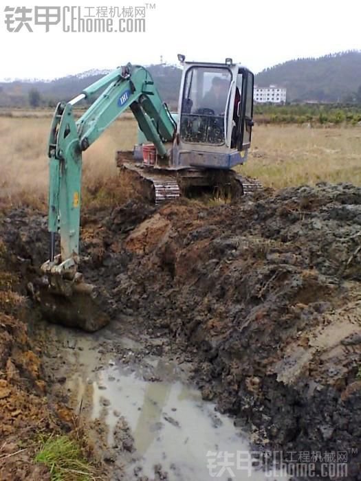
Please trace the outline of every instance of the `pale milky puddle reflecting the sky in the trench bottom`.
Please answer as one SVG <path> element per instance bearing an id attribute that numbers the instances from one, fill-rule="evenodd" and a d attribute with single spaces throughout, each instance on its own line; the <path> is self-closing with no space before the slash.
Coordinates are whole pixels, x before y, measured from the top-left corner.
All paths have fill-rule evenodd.
<path id="1" fill-rule="evenodd" d="M 124 346 L 136 348 L 133 343 L 123 339 Z M 127 471 L 127 479 L 136 479 L 134 470 L 140 467 L 138 476 L 153 478 L 154 465 L 160 464 L 162 470 L 168 472 L 170 481 L 211 480 L 215 476 L 212 478 L 208 471 L 208 458 L 215 459 L 219 451 L 233 454 L 233 460 L 237 451 L 241 451 L 241 465 L 245 469 L 244 457 L 250 449 L 247 438 L 234 427 L 231 418 L 216 412 L 213 403 L 203 401 L 199 390 L 179 380 L 175 363 L 147 357 L 146 366 L 135 368 L 116 363 L 116 359 L 106 355 L 99 368 L 89 344 L 84 343 L 82 348 L 75 354 L 78 366 L 83 368 L 67 380 L 66 387 L 74 393 L 78 405 L 89 406 L 91 419 L 105 421 L 110 446 L 117 445 L 114 432 L 119 416 L 127 420 L 137 457 Z M 149 376 L 162 381 L 145 380 Z M 220 470 L 221 465 L 215 473 Z M 252 470 L 250 476 L 243 471 L 240 478 L 237 471 L 233 469 L 233 472 L 235 478 L 225 469 L 224 476 L 217 479 L 275 479 L 262 471 Z M 279 475 L 276 479 L 287 478 Z"/>

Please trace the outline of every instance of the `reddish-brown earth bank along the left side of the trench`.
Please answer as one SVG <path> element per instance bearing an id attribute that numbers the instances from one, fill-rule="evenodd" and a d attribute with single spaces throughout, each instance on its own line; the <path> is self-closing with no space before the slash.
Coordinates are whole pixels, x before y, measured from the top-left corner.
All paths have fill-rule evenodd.
<path id="1" fill-rule="evenodd" d="M 72 412 L 47 403 L 39 350 L 28 336 L 30 305 L 18 291 L 11 254 L 0 240 L 0 480 L 50 480 L 46 467 L 32 463 L 34 438 L 69 432 L 64 415 Z"/>

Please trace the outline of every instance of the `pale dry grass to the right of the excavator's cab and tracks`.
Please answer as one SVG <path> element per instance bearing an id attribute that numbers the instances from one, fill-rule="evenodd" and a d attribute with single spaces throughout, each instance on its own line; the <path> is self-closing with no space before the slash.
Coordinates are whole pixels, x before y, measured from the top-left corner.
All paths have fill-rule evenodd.
<path id="1" fill-rule="evenodd" d="M 360 127 L 256 126 L 240 171 L 274 188 L 320 181 L 360 186 L 360 160 Z"/>

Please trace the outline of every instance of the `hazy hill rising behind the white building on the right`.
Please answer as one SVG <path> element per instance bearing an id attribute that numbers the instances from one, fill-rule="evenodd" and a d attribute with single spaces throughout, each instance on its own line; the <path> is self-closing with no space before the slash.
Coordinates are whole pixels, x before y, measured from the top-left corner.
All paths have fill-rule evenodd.
<path id="1" fill-rule="evenodd" d="M 288 101 L 350 102 L 361 85 L 361 52 L 289 60 L 261 71 L 255 82 L 287 87 Z"/>

